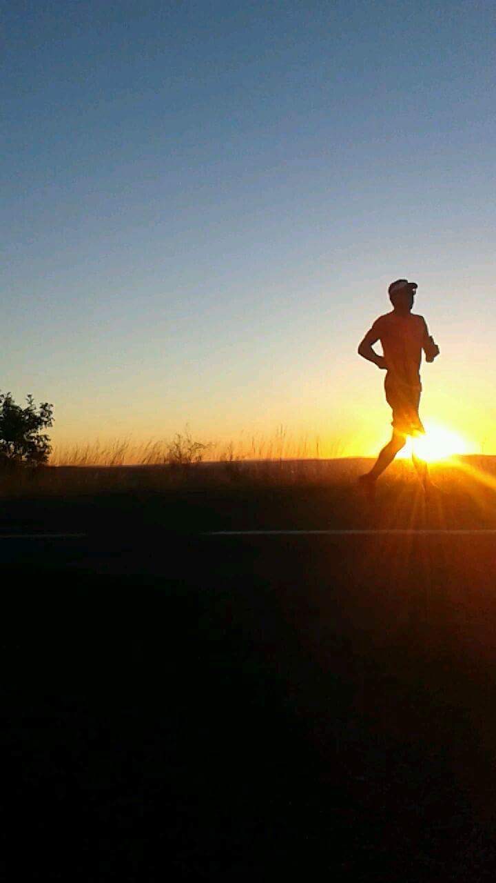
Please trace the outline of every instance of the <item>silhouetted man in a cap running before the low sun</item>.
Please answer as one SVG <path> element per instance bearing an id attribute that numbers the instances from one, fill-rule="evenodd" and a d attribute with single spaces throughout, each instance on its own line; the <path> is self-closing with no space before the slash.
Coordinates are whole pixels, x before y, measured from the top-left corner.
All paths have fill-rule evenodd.
<path id="1" fill-rule="evenodd" d="M 433 362 L 440 353 L 439 347 L 429 336 L 424 317 L 411 312 L 417 283 L 396 279 L 387 291 L 393 310 L 376 319 L 358 347 L 360 356 L 387 372 L 384 389 L 387 403 L 393 410 L 393 434 L 390 442 L 380 451 L 371 471 L 358 479 L 369 499 L 373 499 L 375 483 L 380 474 L 404 447 L 407 435 L 425 433 L 418 416 L 422 390 L 420 361 L 423 350 L 427 362 Z M 382 345 L 382 356 L 372 349 L 378 340 Z M 412 459 L 424 489 L 428 492 L 432 485 L 427 466 L 415 455 L 412 455 Z"/>

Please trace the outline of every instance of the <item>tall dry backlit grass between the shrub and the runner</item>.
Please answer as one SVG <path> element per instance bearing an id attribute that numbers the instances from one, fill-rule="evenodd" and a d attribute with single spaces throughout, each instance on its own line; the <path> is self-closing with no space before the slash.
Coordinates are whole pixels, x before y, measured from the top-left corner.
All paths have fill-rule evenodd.
<path id="1" fill-rule="evenodd" d="M 233 483 L 328 485 L 352 479 L 365 468 L 360 463 L 357 458 L 342 457 L 340 444 L 331 449 L 331 457 L 323 458 L 318 436 L 295 439 L 284 426 L 279 426 L 272 437 L 252 435 L 237 443 L 195 440 L 186 427 L 172 439 L 142 444 L 116 439 L 106 445 L 94 442 L 54 449 L 50 468 L 36 481 L 36 486 L 54 493 L 56 488 L 59 493 L 70 493 L 70 488 L 94 492 L 117 487 L 155 491 L 171 487 L 213 488 Z"/>

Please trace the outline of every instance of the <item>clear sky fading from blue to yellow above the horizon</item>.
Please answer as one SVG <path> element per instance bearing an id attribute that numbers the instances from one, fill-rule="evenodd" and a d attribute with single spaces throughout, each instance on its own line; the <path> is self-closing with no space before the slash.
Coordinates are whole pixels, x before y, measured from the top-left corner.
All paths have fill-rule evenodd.
<path id="1" fill-rule="evenodd" d="M 357 343 L 418 283 L 424 417 L 496 452 L 490 0 L 7 0 L 0 389 L 56 444 L 372 454 Z"/>

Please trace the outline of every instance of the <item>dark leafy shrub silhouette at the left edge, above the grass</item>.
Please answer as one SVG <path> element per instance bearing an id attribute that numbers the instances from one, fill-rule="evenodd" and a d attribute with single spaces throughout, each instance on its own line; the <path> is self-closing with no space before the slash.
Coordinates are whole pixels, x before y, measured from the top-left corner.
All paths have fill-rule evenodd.
<path id="1" fill-rule="evenodd" d="M 26 396 L 26 408 L 14 402 L 10 392 L 0 393 L 0 468 L 40 466 L 51 453 L 49 436 L 43 429 L 53 426 L 53 404 L 38 408 L 33 396 Z"/>

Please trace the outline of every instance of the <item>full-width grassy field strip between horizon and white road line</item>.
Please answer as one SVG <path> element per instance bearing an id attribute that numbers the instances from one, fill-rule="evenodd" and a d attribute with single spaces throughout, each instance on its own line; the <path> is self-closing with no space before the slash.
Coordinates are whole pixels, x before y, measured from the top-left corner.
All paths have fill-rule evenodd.
<path id="1" fill-rule="evenodd" d="M 371 509 L 357 476 L 372 461 L 228 461 L 140 466 L 49 466 L 0 482 L 0 525 L 195 533 L 229 529 L 496 525 L 496 457 L 431 466 L 439 494 L 425 503 L 409 460 L 393 464 Z"/>

